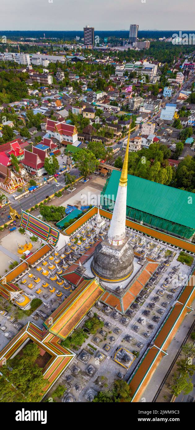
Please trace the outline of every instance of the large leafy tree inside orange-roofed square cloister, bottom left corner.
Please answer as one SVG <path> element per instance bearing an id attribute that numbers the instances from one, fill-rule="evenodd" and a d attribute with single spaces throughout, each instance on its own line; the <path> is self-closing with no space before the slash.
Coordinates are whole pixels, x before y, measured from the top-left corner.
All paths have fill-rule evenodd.
<path id="1" fill-rule="evenodd" d="M 40 402 L 48 381 L 35 362 L 39 354 L 36 344 L 28 344 L 22 356 L 17 354 L 1 367 L 0 402 Z"/>

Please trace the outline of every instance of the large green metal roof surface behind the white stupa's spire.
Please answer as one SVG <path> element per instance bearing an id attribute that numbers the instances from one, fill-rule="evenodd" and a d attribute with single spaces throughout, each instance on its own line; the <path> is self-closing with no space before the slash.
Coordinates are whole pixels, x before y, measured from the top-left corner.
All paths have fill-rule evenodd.
<path id="1" fill-rule="evenodd" d="M 120 176 L 121 172 L 112 171 L 104 194 L 116 199 Z M 193 193 L 128 175 L 127 206 L 133 209 L 195 229 L 194 204 L 188 203 L 193 199 Z"/>

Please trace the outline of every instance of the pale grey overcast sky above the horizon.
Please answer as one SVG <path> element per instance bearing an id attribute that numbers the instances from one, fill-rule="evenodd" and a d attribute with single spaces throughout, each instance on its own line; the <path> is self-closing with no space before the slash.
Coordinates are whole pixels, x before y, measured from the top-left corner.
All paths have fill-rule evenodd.
<path id="1" fill-rule="evenodd" d="M 194 0 L 6 0 L 1 30 L 193 30 Z"/>

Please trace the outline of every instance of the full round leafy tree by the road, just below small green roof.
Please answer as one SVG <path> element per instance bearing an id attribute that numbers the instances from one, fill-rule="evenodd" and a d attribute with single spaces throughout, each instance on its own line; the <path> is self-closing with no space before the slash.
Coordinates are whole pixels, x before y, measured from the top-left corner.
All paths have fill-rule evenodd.
<path id="1" fill-rule="evenodd" d="M 73 160 L 81 175 L 84 176 L 84 179 L 86 179 L 90 173 L 95 172 L 99 166 L 99 161 L 96 160 L 93 152 L 87 151 L 85 149 L 75 152 L 73 155 Z"/>

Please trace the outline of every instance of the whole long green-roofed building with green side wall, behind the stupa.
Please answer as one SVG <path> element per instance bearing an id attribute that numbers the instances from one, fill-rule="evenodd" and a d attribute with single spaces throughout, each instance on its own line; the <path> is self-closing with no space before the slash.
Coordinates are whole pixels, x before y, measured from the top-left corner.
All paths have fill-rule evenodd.
<path id="1" fill-rule="evenodd" d="M 102 191 L 104 208 L 115 201 L 121 172 L 113 170 Z M 128 175 L 127 218 L 173 236 L 190 239 L 195 233 L 195 194 Z"/>

